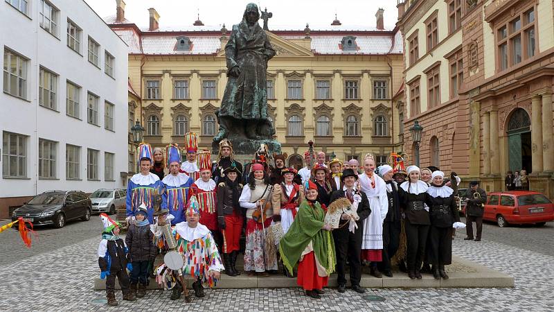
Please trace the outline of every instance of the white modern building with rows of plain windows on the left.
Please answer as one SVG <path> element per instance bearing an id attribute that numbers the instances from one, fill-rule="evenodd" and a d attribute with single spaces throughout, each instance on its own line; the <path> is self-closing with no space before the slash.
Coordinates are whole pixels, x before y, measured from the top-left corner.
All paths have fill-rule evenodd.
<path id="1" fill-rule="evenodd" d="M 0 219 L 42 191 L 125 187 L 125 42 L 83 0 L 2 0 L 0 49 Z"/>

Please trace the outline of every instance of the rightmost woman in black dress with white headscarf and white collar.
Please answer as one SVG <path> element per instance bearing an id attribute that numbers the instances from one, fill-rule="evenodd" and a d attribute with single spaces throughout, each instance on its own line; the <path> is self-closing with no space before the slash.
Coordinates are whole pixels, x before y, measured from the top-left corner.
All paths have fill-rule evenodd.
<path id="1" fill-rule="evenodd" d="M 443 171 L 434 171 L 431 174 L 431 186 L 427 189 L 427 206 L 431 218 L 427 259 L 433 265 L 431 272 L 435 279 L 448 279 L 445 265 L 452 264 L 452 231 L 453 228 L 465 227 L 458 216 L 454 191 L 445 185 L 444 177 Z"/>

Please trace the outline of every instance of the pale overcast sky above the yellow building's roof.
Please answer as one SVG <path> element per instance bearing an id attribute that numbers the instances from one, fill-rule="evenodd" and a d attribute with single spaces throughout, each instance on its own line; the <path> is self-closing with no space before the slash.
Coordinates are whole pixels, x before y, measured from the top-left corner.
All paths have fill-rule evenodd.
<path id="1" fill-rule="evenodd" d="M 85 0 L 100 17 L 116 14 L 116 0 Z M 238 24 L 247 3 L 242 0 L 125 0 L 125 18 L 137 26 L 148 27 L 148 8 L 160 15 L 160 27 L 192 26 L 197 12 L 204 25 Z M 335 12 L 343 26 L 375 27 L 375 12 L 384 8 L 384 26 L 392 29 L 397 20 L 397 0 L 255 0 L 262 10 L 273 12 L 269 28 L 330 25 Z"/>

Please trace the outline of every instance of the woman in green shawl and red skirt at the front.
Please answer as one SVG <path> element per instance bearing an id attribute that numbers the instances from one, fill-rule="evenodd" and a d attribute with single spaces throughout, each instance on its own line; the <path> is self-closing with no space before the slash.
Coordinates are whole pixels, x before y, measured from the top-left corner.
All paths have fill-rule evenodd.
<path id="1" fill-rule="evenodd" d="M 306 200 L 301 203 L 289 231 L 280 240 L 279 252 L 285 270 L 291 274 L 298 263 L 298 286 L 304 288 L 307 296 L 319 299 L 337 260 L 331 226 L 323 223 L 325 210 L 317 201 L 317 190 L 314 182 L 307 182 Z"/>

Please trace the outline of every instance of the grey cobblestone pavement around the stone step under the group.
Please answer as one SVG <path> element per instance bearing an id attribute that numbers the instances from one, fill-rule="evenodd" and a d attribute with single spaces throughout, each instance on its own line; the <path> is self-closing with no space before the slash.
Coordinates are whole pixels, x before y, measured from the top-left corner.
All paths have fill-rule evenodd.
<path id="1" fill-rule="evenodd" d="M 98 220 L 93 219 L 90 223 L 98 224 Z M 85 224 L 87 223 L 78 223 L 78 225 Z M 150 291 L 146 297 L 134 303 L 122 302 L 121 294 L 118 293 L 119 306 L 111 310 L 551 311 L 554 306 L 554 298 L 551 295 L 554 286 L 551 278 L 554 276 L 554 269 L 551 264 L 554 257 L 549 252 L 542 252 L 540 248 L 529 246 L 543 245 L 544 236 L 537 236 L 534 232 L 541 233 L 541 236 L 552 233 L 553 223 L 548 223 L 542 229 L 532 227 L 501 229 L 504 231 L 503 239 L 507 243 L 496 241 L 497 234 L 494 233 L 500 232 L 496 232 L 496 229 L 492 228 L 494 226 L 484 226 L 483 241 L 479 243 L 463 241 L 464 233 L 458 231 L 458 236 L 454 240 L 454 253 L 514 276 L 515 288 L 395 288 L 368 290 L 366 293 L 366 295 L 385 297 L 384 302 L 370 302 L 364 298 L 364 295 L 352 291 L 341 294 L 336 289 L 327 289 L 322 300 L 305 297 L 299 288 L 215 289 L 206 291 L 204 299 L 195 298 L 192 304 L 185 304 L 182 299 L 172 302 L 169 300 L 168 292 Z M 95 299 L 105 298 L 105 292 L 92 290 L 93 278 L 99 273 L 96 249 L 100 239 L 98 229 L 93 232 L 89 236 L 91 238 L 72 245 L 46 252 L 39 250 L 38 254 L 26 259 L 2 264 L 0 309 L 3 311 L 105 311 L 107 309 L 105 304 L 92 303 Z M 528 234 L 518 236 L 520 232 L 528 232 Z M 67 240 L 71 238 L 71 235 L 63 234 L 55 235 L 51 239 L 58 241 L 62 239 L 61 236 L 66 236 Z M 521 247 L 518 247 L 509 236 L 524 239 Z M 0 237 L 4 239 L 3 236 Z M 552 246 L 552 244 L 548 245 Z M 8 248 L 14 254 L 18 254 L 21 249 L 26 248 L 20 242 Z"/>

